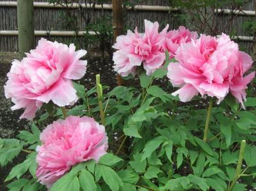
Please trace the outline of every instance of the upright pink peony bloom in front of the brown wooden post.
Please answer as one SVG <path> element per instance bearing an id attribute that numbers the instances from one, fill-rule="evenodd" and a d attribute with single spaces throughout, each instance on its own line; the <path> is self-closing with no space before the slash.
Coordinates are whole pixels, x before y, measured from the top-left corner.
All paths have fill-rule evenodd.
<path id="1" fill-rule="evenodd" d="M 167 32 L 169 25 L 158 33 L 158 22 L 145 20 L 145 33 L 139 34 L 137 28 L 135 33 L 128 31 L 127 35 L 117 37 L 113 48 L 117 51 L 113 54 L 114 69 L 122 76 L 130 73 L 135 75 L 136 67 L 143 62 L 147 75 L 151 75 L 160 68 L 165 61 L 165 52 L 161 50 L 159 41 Z"/>

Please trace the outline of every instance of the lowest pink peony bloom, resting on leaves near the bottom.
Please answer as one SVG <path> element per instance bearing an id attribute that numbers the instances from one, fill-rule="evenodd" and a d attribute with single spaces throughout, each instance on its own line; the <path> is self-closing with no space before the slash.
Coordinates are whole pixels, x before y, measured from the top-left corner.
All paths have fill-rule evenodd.
<path id="1" fill-rule="evenodd" d="M 53 122 L 41 133 L 40 140 L 36 176 L 48 188 L 75 164 L 98 161 L 108 149 L 105 127 L 86 116 L 69 116 Z"/>

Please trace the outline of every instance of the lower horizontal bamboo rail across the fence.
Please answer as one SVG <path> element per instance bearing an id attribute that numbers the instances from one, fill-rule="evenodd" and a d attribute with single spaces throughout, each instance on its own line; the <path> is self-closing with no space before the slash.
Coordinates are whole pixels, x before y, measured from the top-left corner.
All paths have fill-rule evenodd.
<path id="1" fill-rule="evenodd" d="M 95 31 L 35 31 L 35 36 L 83 36 L 89 33 L 89 35 L 96 35 Z M 18 31 L 0 31 L 0 36 L 18 36 Z M 254 36 L 232 36 L 233 40 L 242 41 L 256 41 Z"/>

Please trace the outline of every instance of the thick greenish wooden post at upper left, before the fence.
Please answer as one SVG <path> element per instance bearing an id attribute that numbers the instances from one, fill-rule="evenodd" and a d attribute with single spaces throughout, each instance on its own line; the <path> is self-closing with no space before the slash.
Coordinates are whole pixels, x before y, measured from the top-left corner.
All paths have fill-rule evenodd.
<path id="1" fill-rule="evenodd" d="M 18 0 L 17 19 L 19 52 L 23 56 L 33 49 L 35 44 L 33 0 Z"/>

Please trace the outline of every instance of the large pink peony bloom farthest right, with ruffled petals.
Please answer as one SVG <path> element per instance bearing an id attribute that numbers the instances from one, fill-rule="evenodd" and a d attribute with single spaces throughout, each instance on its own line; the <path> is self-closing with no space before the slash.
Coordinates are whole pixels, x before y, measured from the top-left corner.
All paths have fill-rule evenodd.
<path id="1" fill-rule="evenodd" d="M 218 104 L 230 92 L 242 107 L 245 89 L 255 72 L 243 77 L 252 65 L 252 58 L 222 34 L 219 38 L 201 35 L 198 40 L 181 44 L 176 51 L 178 63 L 170 63 L 167 76 L 176 87 L 173 95 L 182 102 L 191 100 L 200 93 L 218 98 Z"/>

